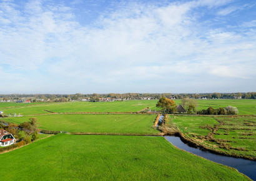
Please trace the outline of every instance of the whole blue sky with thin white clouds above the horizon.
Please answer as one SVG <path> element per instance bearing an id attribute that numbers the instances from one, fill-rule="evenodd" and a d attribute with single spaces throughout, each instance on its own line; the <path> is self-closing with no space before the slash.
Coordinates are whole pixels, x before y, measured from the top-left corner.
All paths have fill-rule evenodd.
<path id="1" fill-rule="evenodd" d="M 255 68 L 255 0 L 0 0 L 0 94 L 255 92 Z"/>

